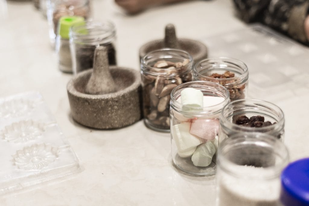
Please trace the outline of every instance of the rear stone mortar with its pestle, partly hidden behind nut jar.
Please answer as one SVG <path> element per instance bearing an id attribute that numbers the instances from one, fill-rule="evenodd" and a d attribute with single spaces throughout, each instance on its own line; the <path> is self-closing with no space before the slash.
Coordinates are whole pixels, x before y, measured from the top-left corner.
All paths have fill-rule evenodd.
<path id="1" fill-rule="evenodd" d="M 202 42 L 191 39 L 177 39 L 175 26 L 173 24 L 166 25 L 164 39 L 153 40 L 141 46 L 139 49 L 140 60 L 147 53 L 161 48 L 177 48 L 184 50 L 193 57 L 194 62 L 206 59 L 208 55 L 207 47 Z"/>

